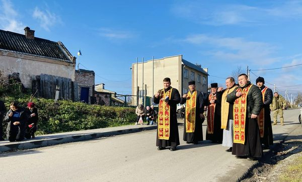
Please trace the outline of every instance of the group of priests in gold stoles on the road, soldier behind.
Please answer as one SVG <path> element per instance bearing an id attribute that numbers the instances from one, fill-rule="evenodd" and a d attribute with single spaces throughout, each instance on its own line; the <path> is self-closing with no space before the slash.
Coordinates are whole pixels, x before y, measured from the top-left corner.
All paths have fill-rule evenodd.
<path id="1" fill-rule="evenodd" d="M 198 144 L 203 140 L 202 123 L 207 116 L 206 140 L 221 143 L 228 147 L 236 158 L 257 160 L 262 156 L 263 149 L 273 144 L 272 123 L 270 112 L 273 112 L 275 125 L 277 115 L 283 122 L 284 98 L 264 85 L 263 77 L 256 79 L 256 85 L 249 81 L 246 74 L 225 80 L 226 88 L 211 83 L 211 92 L 204 97 L 195 89 L 195 81 L 188 84 L 189 91 L 182 96 L 171 87 L 170 78 L 163 80 L 164 88 L 154 95 L 154 103 L 159 104 L 157 142 L 158 150 L 174 151 L 180 144 L 176 106 L 181 108 L 184 118 L 183 140 L 187 144 Z M 138 115 L 139 116 L 139 115 Z"/>

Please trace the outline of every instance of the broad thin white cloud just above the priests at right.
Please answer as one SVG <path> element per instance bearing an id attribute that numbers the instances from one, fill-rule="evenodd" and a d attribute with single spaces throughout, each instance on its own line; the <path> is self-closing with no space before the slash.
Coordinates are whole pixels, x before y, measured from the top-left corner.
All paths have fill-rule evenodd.
<path id="1" fill-rule="evenodd" d="M 271 58 L 276 47 L 262 42 L 246 41 L 243 38 L 217 38 L 204 34 L 188 36 L 184 42 L 209 48 L 205 54 L 224 61 L 247 61 L 251 64 L 270 64 L 279 58 Z"/>

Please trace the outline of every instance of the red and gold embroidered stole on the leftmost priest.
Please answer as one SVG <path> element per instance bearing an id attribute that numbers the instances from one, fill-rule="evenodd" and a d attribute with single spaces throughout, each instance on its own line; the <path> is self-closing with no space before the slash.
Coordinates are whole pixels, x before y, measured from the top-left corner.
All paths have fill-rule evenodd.
<path id="1" fill-rule="evenodd" d="M 160 93 L 158 123 L 159 139 L 169 140 L 170 137 L 170 105 L 165 102 L 165 99 L 167 96 L 169 97 L 169 99 L 171 99 L 171 93 L 172 87 L 167 92 L 165 92 L 165 89 L 163 89 Z"/>

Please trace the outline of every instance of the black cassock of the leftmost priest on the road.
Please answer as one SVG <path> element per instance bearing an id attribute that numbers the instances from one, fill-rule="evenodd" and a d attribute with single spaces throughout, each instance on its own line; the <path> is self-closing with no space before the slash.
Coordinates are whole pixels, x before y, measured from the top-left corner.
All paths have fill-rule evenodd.
<path id="1" fill-rule="evenodd" d="M 171 87 L 165 89 L 165 92 L 167 92 Z M 159 98 L 153 97 L 153 102 L 156 104 L 160 103 L 160 96 Z M 180 95 L 177 89 L 173 88 L 171 93 L 171 99 L 168 101 L 168 104 L 170 105 L 170 137 L 169 140 L 159 139 L 157 130 L 156 135 L 156 146 L 162 146 L 162 147 L 176 147 L 177 145 L 180 145 L 179 142 L 179 134 L 178 134 L 178 124 L 177 124 L 177 104 L 180 102 Z"/>

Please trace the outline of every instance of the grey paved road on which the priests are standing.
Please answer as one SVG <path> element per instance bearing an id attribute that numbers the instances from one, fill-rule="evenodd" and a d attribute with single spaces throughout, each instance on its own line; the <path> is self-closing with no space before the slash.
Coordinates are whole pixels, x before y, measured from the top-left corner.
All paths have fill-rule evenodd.
<path id="1" fill-rule="evenodd" d="M 298 109 L 273 126 L 280 140 L 298 123 Z M 205 136 L 205 126 L 203 127 Z M 180 138 L 183 126 L 179 126 Z M 255 162 L 203 141 L 158 151 L 156 130 L 0 154 L 1 181 L 236 181 Z M 277 142 L 277 141 L 275 141 Z M 166 167 L 165 169 L 163 169 Z"/>

